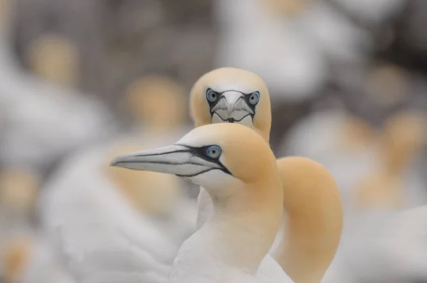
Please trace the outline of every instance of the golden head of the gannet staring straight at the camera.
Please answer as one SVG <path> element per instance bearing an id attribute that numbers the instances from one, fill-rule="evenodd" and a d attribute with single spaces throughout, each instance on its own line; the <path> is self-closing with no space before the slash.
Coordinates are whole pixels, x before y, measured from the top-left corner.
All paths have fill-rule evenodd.
<path id="1" fill-rule="evenodd" d="M 191 90 L 190 108 L 196 127 L 236 122 L 269 140 L 270 95 L 265 82 L 255 73 L 236 68 L 206 73 Z"/>

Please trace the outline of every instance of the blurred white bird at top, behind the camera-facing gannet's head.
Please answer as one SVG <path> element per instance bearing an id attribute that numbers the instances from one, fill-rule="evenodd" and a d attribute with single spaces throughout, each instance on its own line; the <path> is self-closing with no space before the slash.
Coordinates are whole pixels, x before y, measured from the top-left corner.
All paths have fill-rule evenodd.
<path id="1" fill-rule="evenodd" d="M 217 0 L 221 33 L 216 65 L 257 73 L 273 102 L 300 102 L 327 79 L 327 56 L 359 58 L 357 47 L 369 41 L 322 1 L 306 1 L 292 16 L 278 12 L 285 1 Z"/>

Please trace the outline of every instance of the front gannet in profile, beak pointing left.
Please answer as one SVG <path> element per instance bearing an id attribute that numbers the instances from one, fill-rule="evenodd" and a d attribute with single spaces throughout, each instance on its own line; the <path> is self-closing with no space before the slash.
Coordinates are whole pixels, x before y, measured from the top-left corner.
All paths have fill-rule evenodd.
<path id="1" fill-rule="evenodd" d="M 112 166 L 181 176 L 213 200 L 211 218 L 181 246 L 169 282 L 292 282 L 267 255 L 283 190 L 275 156 L 253 130 L 205 125 L 172 146 L 118 156 Z"/>

